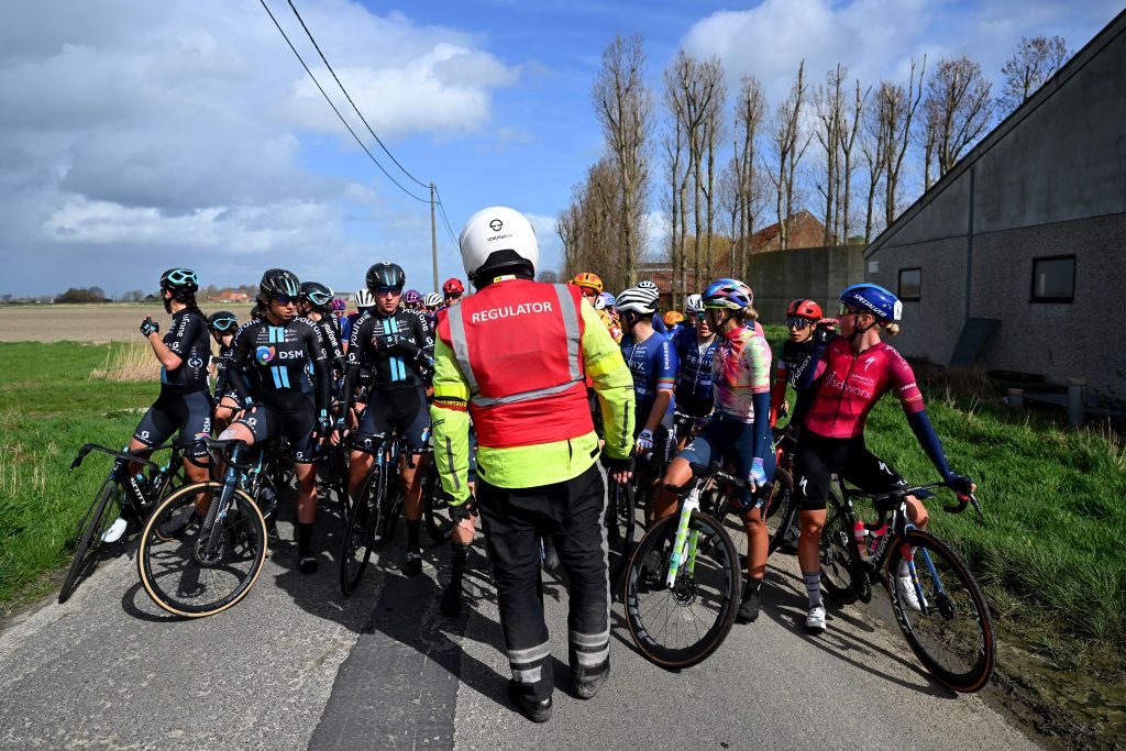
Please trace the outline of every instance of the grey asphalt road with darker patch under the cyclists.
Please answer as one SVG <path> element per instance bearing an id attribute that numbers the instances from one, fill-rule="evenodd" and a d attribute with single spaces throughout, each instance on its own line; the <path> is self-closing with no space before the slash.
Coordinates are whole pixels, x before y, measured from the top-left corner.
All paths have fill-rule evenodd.
<path id="1" fill-rule="evenodd" d="M 807 637 L 787 556 L 771 558 L 759 620 L 679 673 L 634 651 L 616 605 L 613 674 L 589 701 L 569 694 L 566 594 L 549 582 L 558 688 L 553 719 L 534 725 L 508 706 L 480 542 L 472 607 L 450 620 L 438 613 L 445 547 L 415 579 L 393 548 L 343 598 L 329 553 L 338 520 L 322 516 L 319 534 L 320 572 L 297 573 L 283 542 L 250 596 L 212 618 L 164 615 L 123 551 L 66 604 L 10 619 L 0 748 L 1035 748 L 981 698 L 931 681 L 872 606 L 830 609 L 830 631 Z"/>

